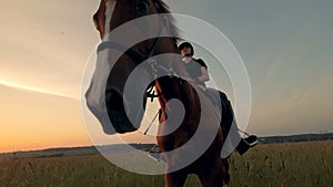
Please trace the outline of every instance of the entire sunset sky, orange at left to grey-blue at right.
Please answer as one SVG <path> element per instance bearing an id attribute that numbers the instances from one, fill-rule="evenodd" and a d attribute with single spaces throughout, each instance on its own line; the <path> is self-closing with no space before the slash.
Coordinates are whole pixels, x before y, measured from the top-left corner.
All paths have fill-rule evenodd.
<path id="1" fill-rule="evenodd" d="M 0 2 L 0 153 L 91 145 L 80 92 L 99 43 L 91 19 L 99 1 Z M 240 53 L 252 90 L 246 132 L 333 132 L 333 1 L 165 2 L 219 29 Z M 233 101 L 225 72 L 210 69 L 212 55 L 195 46 L 195 56 L 221 74 L 219 89 Z"/>

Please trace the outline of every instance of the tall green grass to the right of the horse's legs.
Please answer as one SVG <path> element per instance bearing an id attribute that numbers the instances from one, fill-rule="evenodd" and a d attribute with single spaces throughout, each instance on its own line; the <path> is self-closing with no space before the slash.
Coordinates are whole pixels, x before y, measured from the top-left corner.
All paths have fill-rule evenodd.
<path id="1" fill-rule="evenodd" d="M 269 144 L 230 159 L 232 186 L 333 187 L 333 142 Z"/>

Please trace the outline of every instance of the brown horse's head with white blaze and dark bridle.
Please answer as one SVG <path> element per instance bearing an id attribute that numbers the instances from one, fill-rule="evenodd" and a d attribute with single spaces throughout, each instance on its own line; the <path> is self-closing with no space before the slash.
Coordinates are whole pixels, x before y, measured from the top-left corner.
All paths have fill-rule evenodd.
<path id="1" fill-rule="evenodd" d="M 103 44 L 105 45 L 108 42 L 109 44 L 110 42 L 113 42 L 113 45 L 107 46 L 110 49 L 99 52 L 98 62 L 90 87 L 85 93 L 85 98 L 88 107 L 101 122 L 103 131 L 107 134 L 132 132 L 135 131 L 141 123 L 143 115 L 142 110 L 134 110 L 131 112 L 131 115 L 135 116 L 133 122 L 132 120 L 129 121 L 128 111 L 125 111 L 125 108 L 142 104 L 142 100 L 144 100 L 143 105 L 145 105 L 145 98 L 142 95 L 143 92 L 133 90 L 132 93 L 141 94 L 140 102 L 130 101 L 130 98 L 123 96 L 128 77 L 138 64 L 150 58 L 152 53 L 161 54 L 178 52 L 175 39 L 163 38 L 157 42 L 158 39 L 153 38 L 130 46 L 127 52 L 120 55 L 114 64 L 110 65 L 110 59 L 112 59 L 117 52 L 119 53 L 121 51 L 120 49 L 122 45 L 119 46 L 119 42 L 114 42 L 112 37 L 110 37 L 112 34 L 109 35 L 109 33 L 131 20 L 157 13 L 169 13 L 165 4 L 160 0 L 101 0 L 99 9 L 93 15 L 94 24 L 103 41 L 100 46 L 103 46 Z M 172 18 L 169 19 L 170 24 L 168 24 L 165 31 L 176 32 L 175 27 L 172 24 Z M 157 18 L 152 21 L 144 22 L 143 25 L 131 25 L 123 31 L 123 35 L 135 35 L 137 38 L 140 38 L 148 30 L 163 27 L 165 27 L 163 25 L 163 21 Z M 119 38 L 117 38 L 117 40 L 121 41 Z M 152 76 L 152 73 L 150 73 L 150 70 L 148 69 L 145 73 L 142 73 L 138 77 L 137 83 L 139 85 L 145 83 L 147 80 L 150 80 L 149 76 Z M 115 132 L 110 128 L 110 125 L 113 125 Z"/>

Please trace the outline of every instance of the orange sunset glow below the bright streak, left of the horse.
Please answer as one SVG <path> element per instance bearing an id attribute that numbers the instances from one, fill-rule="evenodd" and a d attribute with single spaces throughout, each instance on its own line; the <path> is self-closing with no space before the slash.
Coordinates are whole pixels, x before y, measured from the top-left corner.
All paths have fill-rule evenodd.
<path id="1" fill-rule="evenodd" d="M 0 152 L 89 145 L 75 98 L 0 85 Z"/>

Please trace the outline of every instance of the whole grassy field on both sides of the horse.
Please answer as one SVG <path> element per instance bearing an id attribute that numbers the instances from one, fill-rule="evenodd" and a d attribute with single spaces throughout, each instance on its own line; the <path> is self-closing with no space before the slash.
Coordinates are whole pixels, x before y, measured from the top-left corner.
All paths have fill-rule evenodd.
<path id="1" fill-rule="evenodd" d="M 333 141 L 261 144 L 230 158 L 230 187 L 333 187 Z M 115 167 L 100 155 L 0 158 L 0 187 L 160 187 L 163 176 Z M 190 176 L 186 187 L 196 187 Z"/>

